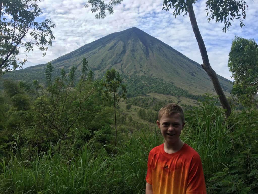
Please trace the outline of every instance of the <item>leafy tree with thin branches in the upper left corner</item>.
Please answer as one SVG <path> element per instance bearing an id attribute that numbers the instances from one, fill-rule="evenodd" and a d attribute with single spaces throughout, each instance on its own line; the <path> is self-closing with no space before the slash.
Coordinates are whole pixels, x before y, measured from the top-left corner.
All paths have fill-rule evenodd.
<path id="1" fill-rule="evenodd" d="M 40 0 L 38 0 L 40 1 Z M 19 48 L 33 51 L 36 46 L 46 55 L 47 46 L 54 40 L 51 28 L 55 25 L 50 19 L 36 22 L 42 10 L 37 0 L 0 0 L 0 73 L 21 68 L 27 59 L 17 63 Z M 24 40 L 30 35 L 30 40 Z"/>

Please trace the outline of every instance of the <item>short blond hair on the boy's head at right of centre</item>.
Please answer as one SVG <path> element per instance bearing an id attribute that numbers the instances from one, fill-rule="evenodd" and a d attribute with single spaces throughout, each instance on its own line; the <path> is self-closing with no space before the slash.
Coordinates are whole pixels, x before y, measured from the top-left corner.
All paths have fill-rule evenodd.
<path id="1" fill-rule="evenodd" d="M 182 122 L 184 122 L 184 111 L 182 107 L 176 103 L 168 103 L 159 110 L 159 121 L 164 114 L 172 115 L 174 113 L 178 113 L 182 118 Z"/>

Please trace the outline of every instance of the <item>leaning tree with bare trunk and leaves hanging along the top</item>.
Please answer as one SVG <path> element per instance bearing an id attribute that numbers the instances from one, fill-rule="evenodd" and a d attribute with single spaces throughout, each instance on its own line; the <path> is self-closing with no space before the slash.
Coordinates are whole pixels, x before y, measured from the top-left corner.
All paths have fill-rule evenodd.
<path id="1" fill-rule="evenodd" d="M 120 4 L 123 0 L 116 1 L 111 0 L 108 4 L 104 4 L 103 1 L 100 0 L 90 0 L 88 3 L 91 3 L 92 5 L 92 12 L 99 11 L 98 17 L 96 15 L 97 19 L 104 18 L 105 10 L 107 10 L 110 14 L 112 14 L 113 6 L 116 4 Z M 187 15 L 189 13 L 191 25 L 193 28 L 193 32 L 195 34 L 195 38 L 197 40 L 199 50 L 201 53 L 201 57 L 203 60 L 202 67 L 207 72 L 208 76 L 211 78 L 214 89 L 219 96 L 220 102 L 222 107 L 226 110 L 225 115 L 226 117 L 229 117 L 231 114 L 231 108 L 229 105 L 229 102 L 221 88 L 221 85 L 219 83 L 219 79 L 215 73 L 215 71 L 211 68 L 211 65 L 209 63 L 208 54 L 205 48 L 204 41 L 201 37 L 195 14 L 193 11 L 193 4 L 197 0 L 164 0 L 163 1 L 163 10 L 169 11 L 170 9 L 173 9 L 173 15 L 176 17 L 183 13 L 184 15 Z M 102 3 L 100 3 L 102 2 Z M 227 29 L 231 26 L 230 20 L 233 21 L 233 19 L 240 19 L 240 27 L 244 26 L 243 20 L 246 17 L 246 8 L 248 8 L 248 5 L 244 0 L 208 0 L 206 3 L 206 13 L 208 16 L 208 22 L 212 19 L 215 19 L 216 23 L 221 21 L 224 22 L 225 27 L 223 28 L 223 31 L 226 32 Z M 89 5 L 85 5 L 85 7 L 88 7 Z M 210 15 L 209 15 L 210 14 Z"/>

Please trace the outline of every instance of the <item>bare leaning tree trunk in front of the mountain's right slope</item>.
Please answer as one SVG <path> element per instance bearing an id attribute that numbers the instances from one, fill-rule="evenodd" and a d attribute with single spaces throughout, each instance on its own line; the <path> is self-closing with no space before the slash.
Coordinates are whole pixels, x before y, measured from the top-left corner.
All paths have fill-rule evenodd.
<path id="1" fill-rule="evenodd" d="M 217 93 L 217 95 L 219 96 L 220 102 L 222 107 L 226 110 L 225 111 L 225 116 L 228 118 L 229 115 L 231 114 L 231 108 L 229 105 L 229 102 L 221 88 L 221 85 L 219 83 L 219 79 L 217 77 L 216 72 L 211 68 L 211 65 L 209 63 L 209 58 L 208 58 L 208 54 L 207 54 L 207 50 L 205 48 L 204 42 L 203 42 L 203 38 L 201 37 L 199 28 L 197 26 L 197 22 L 195 19 L 195 14 L 193 11 L 193 5 L 192 3 L 190 3 L 188 5 L 188 13 L 189 13 L 189 17 L 190 17 L 190 21 L 192 24 L 192 28 L 193 28 L 193 32 L 195 34 L 195 38 L 197 40 L 199 49 L 200 49 L 200 53 L 201 53 L 201 58 L 203 59 L 203 69 L 207 72 L 208 76 L 211 78 L 214 89 Z"/>

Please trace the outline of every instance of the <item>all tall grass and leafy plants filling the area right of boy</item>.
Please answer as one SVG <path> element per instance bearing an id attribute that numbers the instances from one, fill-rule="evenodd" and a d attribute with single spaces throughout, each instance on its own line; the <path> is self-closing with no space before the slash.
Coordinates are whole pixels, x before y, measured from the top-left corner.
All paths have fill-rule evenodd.
<path id="1" fill-rule="evenodd" d="M 182 134 L 200 154 L 207 193 L 258 193 L 258 111 L 235 111 L 226 120 L 215 104 L 196 107 Z"/>

